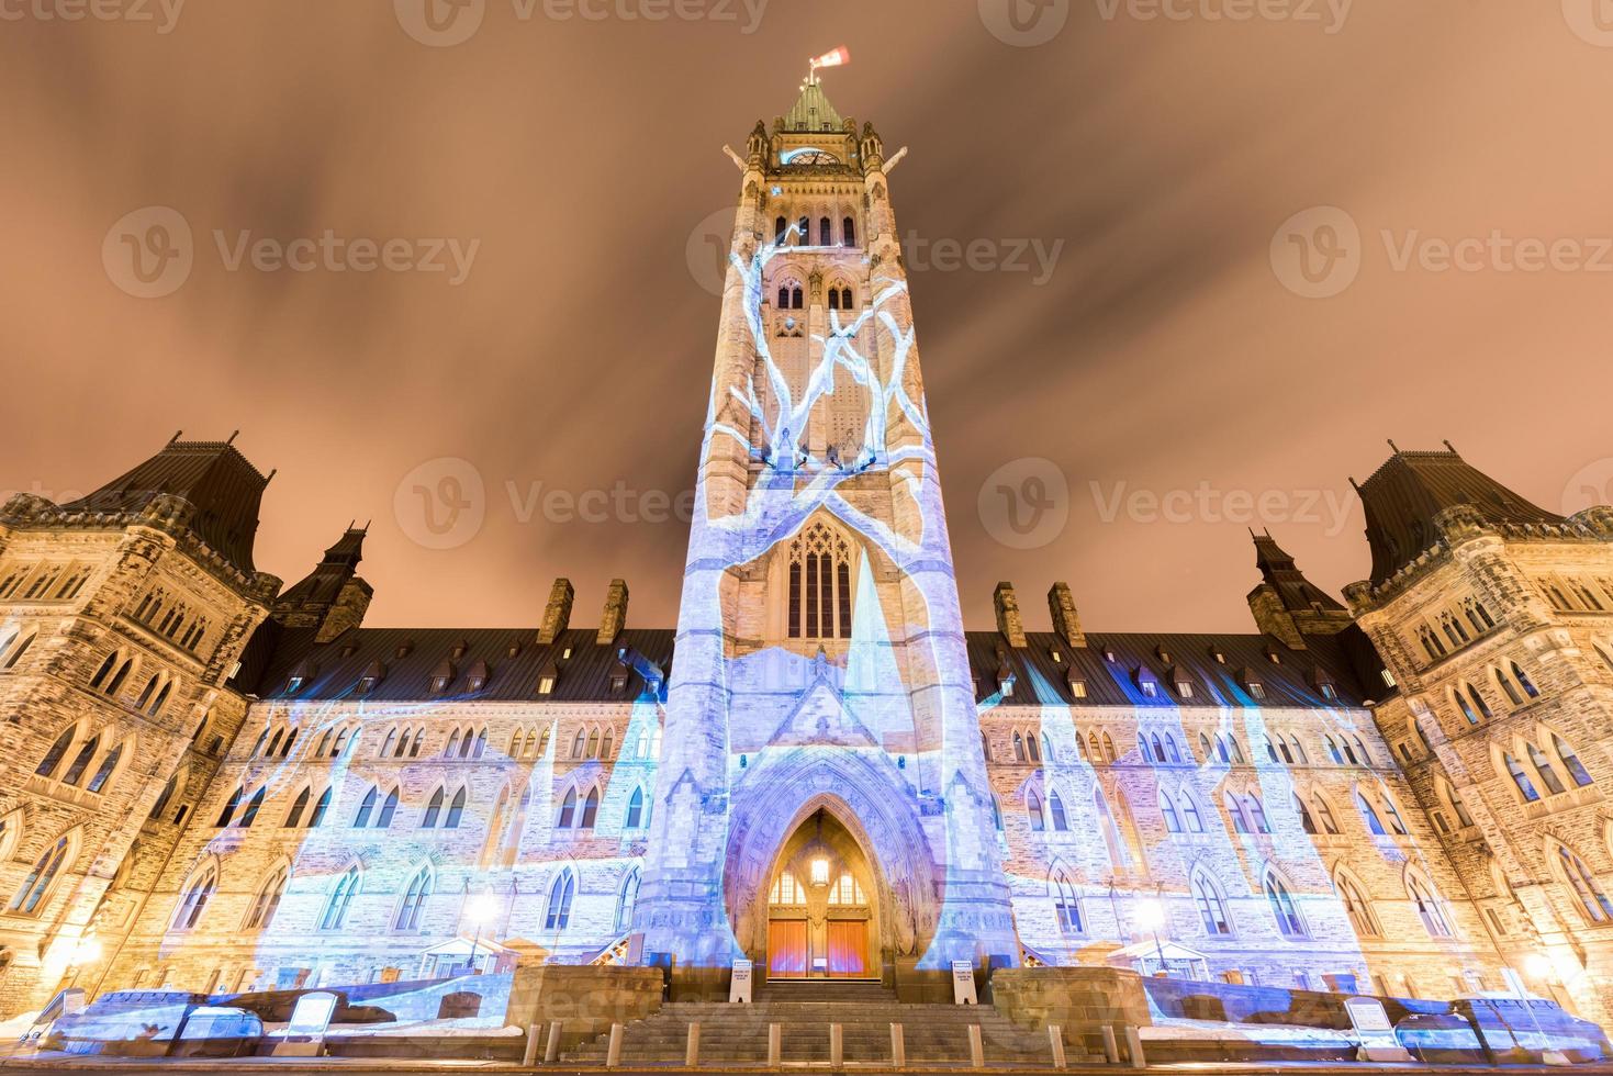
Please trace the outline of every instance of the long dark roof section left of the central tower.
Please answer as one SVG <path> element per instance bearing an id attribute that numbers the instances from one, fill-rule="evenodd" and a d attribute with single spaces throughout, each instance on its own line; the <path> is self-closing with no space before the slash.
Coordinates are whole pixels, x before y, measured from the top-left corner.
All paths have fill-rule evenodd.
<path id="1" fill-rule="evenodd" d="M 627 628 L 613 644 L 600 645 L 592 628 L 563 631 L 552 644 L 539 644 L 536 628 L 353 628 L 316 644 L 315 629 L 282 629 L 256 690 L 244 682 L 237 687 L 281 702 L 632 702 L 645 690 L 645 674 L 653 676 L 656 668 L 665 694 L 674 634 Z M 455 657 L 460 645 L 465 650 Z M 611 679 L 621 647 L 632 652 L 631 674 L 615 690 Z M 450 658 L 456 679 L 439 690 L 432 681 Z M 487 666 L 487 684 L 468 692 L 466 671 L 479 663 Z M 376 684 L 360 690 L 360 679 L 373 676 L 377 666 Z M 539 694 L 547 666 L 555 674 L 553 690 Z M 313 669 L 313 676 L 290 692 L 292 673 L 298 669 Z"/>

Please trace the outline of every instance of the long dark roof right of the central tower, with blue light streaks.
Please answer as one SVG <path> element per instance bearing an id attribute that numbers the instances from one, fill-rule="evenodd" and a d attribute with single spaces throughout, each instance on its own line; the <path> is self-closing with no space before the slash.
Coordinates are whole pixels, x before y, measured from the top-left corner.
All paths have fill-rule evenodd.
<path id="1" fill-rule="evenodd" d="M 971 631 L 966 639 L 976 700 L 998 694 L 1003 663 L 1015 674 L 1013 694 L 998 702 L 1005 707 L 1332 710 L 1360 707 L 1366 699 L 1389 694 L 1382 687 L 1363 689 L 1352 644 L 1337 636 L 1308 636 L 1307 650 L 1290 650 L 1271 636 L 1258 634 L 1089 634 L 1086 647 L 1071 647 L 1055 632 L 1026 632 L 1024 647 L 1010 647 L 995 631 Z M 1273 653 L 1277 661 L 1271 660 Z M 1224 661 L 1218 661 L 1216 655 Z M 1324 671 L 1323 678 L 1316 676 L 1318 668 Z M 1084 684 L 1082 699 L 1076 699 L 1071 676 Z M 1260 682 L 1263 699 L 1252 697 L 1248 679 Z M 1176 690 L 1182 681 L 1192 684 L 1189 699 Z M 1153 695 L 1144 692 L 1145 682 L 1158 684 Z M 1323 682 L 1336 689 L 1337 699 L 1321 695 L 1318 684 Z"/>

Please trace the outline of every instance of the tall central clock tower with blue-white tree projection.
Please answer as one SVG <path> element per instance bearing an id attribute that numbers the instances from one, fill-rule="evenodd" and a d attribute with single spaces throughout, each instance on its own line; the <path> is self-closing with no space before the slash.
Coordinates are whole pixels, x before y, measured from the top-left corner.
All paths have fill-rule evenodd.
<path id="1" fill-rule="evenodd" d="M 890 208 L 900 153 L 810 77 L 731 156 L 639 926 L 686 995 L 750 957 L 771 976 L 850 961 L 913 997 L 952 960 L 1016 963 L 1018 945 Z M 826 823 L 844 839 L 821 847 L 847 853 L 800 878 L 786 850 L 819 847 Z M 829 944 L 792 924 L 816 924 L 842 865 L 866 936 Z"/>

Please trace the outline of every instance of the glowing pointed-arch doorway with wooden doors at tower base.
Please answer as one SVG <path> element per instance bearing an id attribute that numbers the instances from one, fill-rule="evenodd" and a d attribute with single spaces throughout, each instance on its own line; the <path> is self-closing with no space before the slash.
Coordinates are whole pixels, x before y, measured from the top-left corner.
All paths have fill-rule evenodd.
<path id="1" fill-rule="evenodd" d="M 769 979 L 877 979 L 877 894 L 868 857 L 818 808 L 784 842 L 768 886 Z"/>

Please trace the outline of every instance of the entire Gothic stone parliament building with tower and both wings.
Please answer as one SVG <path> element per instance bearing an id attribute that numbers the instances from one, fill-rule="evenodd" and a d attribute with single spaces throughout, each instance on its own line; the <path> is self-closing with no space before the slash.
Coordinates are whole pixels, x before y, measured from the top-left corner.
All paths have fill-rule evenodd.
<path id="1" fill-rule="evenodd" d="M 1052 579 L 966 629 L 900 155 L 808 79 L 731 156 L 676 626 L 566 579 L 529 628 L 366 626 L 365 531 L 258 571 L 226 442 L 0 510 L 0 1018 L 523 960 L 710 995 L 748 958 L 902 997 L 960 960 L 1511 968 L 1607 1021 L 1613 508 L 1395 450 L 1344 602 L 1261 534 L 1245 634 L 1089 631 Z"/>

